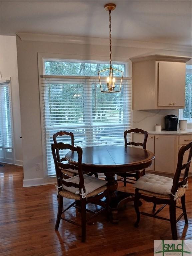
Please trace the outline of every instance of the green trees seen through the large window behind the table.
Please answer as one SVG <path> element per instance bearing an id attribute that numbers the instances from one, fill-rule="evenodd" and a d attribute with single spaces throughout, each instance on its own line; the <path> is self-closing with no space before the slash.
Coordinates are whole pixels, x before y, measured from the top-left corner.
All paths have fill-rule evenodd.
<path id="1" fill-rule="evenodd" d="M 113 65 L 124 71 L 124 65 Z M 67 76 L 97 76 L 98 71 L 109 68 L 108 64 L 99 63 L 66 63 L 45 61 L 45 74 Z M 123 115 L 123 92 L 101 93 L 100 86 L 91 85 L 91 110 L 93 122 L 109 122 L 117 118 L 121 122 Z M 82 83 L 50 84 L 50 120 L 52 124 L 85 123 L 86 92 Z M 90 117 L 88 117 L 90 118 Z"/>

